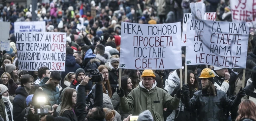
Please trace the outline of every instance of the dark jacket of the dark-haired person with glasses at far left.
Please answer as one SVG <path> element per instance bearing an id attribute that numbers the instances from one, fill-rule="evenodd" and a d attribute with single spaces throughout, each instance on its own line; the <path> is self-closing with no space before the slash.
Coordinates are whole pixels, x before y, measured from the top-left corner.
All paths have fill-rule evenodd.
<path id="1" fill-rule="evenodd" d="M 22 121 L 24 116 L 22 116 L 21 112 L 23 111 L 23 109 L 27 107 L 25 102 L 26 102 L 28 93 L 25 90 L 25 88 L 21 86 L 16 89 L 15 93 L 16 93 L 16 96 L 14 97 L 13 108 L 12 108 L 13 120 Z"/>

